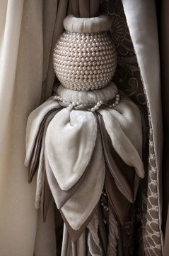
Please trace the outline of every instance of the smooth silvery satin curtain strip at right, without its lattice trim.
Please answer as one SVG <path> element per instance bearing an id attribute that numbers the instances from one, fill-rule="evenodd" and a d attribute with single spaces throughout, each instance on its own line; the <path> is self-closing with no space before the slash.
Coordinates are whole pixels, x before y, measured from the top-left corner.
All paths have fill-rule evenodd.
<path id="1" fill-rule="evenodd" d="M 146 92 L 153 131 L 154 157 L 158 184 L 158 230 L 163 253 L 161 164 L 163 146 L 163 122 L 161 112 L 160 60 L 155 1 L 122 0 L 129 33 L 140 68 Z"/>

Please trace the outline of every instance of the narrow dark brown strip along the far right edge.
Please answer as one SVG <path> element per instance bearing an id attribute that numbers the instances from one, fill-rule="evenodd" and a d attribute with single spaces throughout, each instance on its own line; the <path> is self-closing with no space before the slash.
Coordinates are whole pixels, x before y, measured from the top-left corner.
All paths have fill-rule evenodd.
<path id="1" fill-rule="evenodd" d="M 162 90 L 162 107 L 163 107 L 163 132 L 164 132 L 164 144 L 163 144 L 163 233 L 165 235 L 164 243 L 164 256 L 169 254 L 169 1 L 163 0 L 161 2 L 161 23 L 160 23 L 160 38 L 161 38 L 161 90 Z"/>

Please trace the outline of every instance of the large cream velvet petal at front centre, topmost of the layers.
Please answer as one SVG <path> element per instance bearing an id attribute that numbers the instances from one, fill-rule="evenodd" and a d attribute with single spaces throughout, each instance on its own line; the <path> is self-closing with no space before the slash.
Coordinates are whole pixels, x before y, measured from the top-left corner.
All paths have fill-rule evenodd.
<path id="1" fill-rule="evenodd" d="M 69 190 L 83 175 L 93 154 L 96 134 L 92 112 L 63 109 L 50 122 L 45 154 L 62 190 Z"/>

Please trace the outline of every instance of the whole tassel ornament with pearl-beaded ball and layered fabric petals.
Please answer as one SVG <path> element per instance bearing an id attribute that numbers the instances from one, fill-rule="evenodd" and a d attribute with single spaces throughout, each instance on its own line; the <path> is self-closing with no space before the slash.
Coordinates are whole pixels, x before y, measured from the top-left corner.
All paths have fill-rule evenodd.
<path id="1" fill-rule="evenodd" d="M 37 171 L 35 206 L 41 203 L 46 215 L 51 191 L 73 241 L 90 222 L 103 187 L 124 223 L 144 178 L 141 112 L 110 82 L 116 67 L 115 46 L 105 32 L 110 19 L 75 20 L 66 18 L 54 50 L 62 85 L 28 117 L 25 157 L 29 182 Z M 70 48 L 71 39 L 83 48 Z"/>

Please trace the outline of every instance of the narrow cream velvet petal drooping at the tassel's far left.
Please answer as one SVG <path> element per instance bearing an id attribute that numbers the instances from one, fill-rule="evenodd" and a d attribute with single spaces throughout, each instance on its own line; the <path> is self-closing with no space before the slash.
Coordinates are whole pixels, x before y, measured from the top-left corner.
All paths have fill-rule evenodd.
<path id="1" fill-rule="evenodd" d="M 30 113 L 28 117 L 27 127 L 26 127 L 26 156 L 25 156 L 25 166 L 29 166 L 30 159 L 33 154 L 33 149 L 35 146 L 35 140 L 37 133 L 40 129 L 40 124 L 45 118 L 46 114 L 54 109 L 59 109 L 60 105 L 57 101 L 47 100 L 40 107 L 37 107 L 33 112 Z"/>

